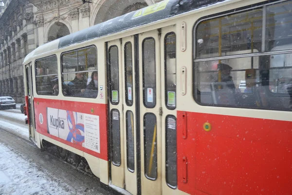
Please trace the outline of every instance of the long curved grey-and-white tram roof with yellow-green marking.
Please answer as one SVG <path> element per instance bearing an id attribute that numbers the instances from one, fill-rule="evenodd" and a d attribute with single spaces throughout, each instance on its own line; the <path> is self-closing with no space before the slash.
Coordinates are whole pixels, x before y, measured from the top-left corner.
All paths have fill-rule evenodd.
<path id="1" fill-rule="evenodd" d="M 89 28 L 41 45 L 32 51 L 25 58 L 24 62 L 32 56 L 52 51 L 53 48 L 58 49 L 86 40 L 104 37 L 158 20 L 167 19 L 221 1 L 225 0 L 181 0 L 179 5 L 179 0 L 164 0 L 158 4 L 144 7 L 140 10 L 96 24 Z"/>

